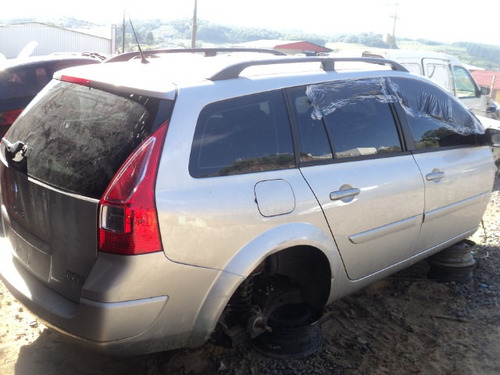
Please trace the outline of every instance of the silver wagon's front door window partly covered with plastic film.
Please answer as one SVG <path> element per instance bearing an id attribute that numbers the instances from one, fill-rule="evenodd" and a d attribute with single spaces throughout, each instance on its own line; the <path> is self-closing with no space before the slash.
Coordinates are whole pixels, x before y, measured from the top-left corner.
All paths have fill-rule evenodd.
<path id="1" fill-rule="evenodd" d="M 440 87 L 406 78 L 391 78 L 417 150 L 470 145 L 481 133 L 479 121 Z"/>

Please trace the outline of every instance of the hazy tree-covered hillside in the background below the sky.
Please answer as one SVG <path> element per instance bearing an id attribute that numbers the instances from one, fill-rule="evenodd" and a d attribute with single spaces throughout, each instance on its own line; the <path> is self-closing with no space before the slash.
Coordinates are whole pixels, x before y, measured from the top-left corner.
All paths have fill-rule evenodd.
<path id="1" fill-rule="evenodd" d="M 9 23 L 47 22 L 65 28 L 91 29 L 92 23 L 75 18 L 64 17 L 56 20 L 16 19 Z M 97 26 L 97 25 L 95 25 Z M 125 41 L 123 41 L 125 26 Z M 133 20 L 137 39 L 143 49 L 190 48 L 191 19 L 164 21 L 161 19 Z M 132 27 L 127 20 L 124 25 L 116 27 L 117 49 L 119 52 L 136 51 L 137 42 Z M 389 48 L 384 35 L 376 33 L 360 34 L 305 34 L 300 31 L 277 31 L 262 28 L 244 28 L 224 26 L 199 20 L 197 27 L 197 47 L 230 47 L 239 43 L 255 40 L 306 40 L 326 46 L 332 50 Z M 488 70 L 500 70 L 500 46 L 481 43 L 457 42 L 453 44 L 439 43 L 426 39 L 397 39 L 397 48 L 413 50 L 431 50 L 445 52 L 458 57 L 462 62 Z"/>

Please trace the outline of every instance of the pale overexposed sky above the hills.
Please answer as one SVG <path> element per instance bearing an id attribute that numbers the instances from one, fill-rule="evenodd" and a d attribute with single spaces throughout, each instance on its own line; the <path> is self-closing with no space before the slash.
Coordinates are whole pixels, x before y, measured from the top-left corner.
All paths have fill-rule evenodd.
<path id="1" fill-rule="evenodd" d="M 72 16 L 118 24 L 193 17 L 195 0 L 16 0 L 2 20 Z M 197 0 L 198 20 L 228 26 L 296 30 L 321 35 L 373 32 L 396 38 L 477 42 L 500 46 L 500 0 Z M 48 6 L 50 4 L 50 6 Z M 396 22 L 394 23 L 396 17 Z M 128 17 L 127 17 L 128 18 Z"/>

